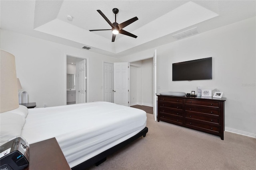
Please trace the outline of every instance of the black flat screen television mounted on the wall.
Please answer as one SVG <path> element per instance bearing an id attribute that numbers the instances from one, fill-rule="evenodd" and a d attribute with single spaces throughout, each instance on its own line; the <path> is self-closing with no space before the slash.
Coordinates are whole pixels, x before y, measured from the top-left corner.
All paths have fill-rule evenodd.
<path id="1" fill-rule="evenodd" d="M 172 81 L 211 79 L 212 57 L 172 64 Z"/>

